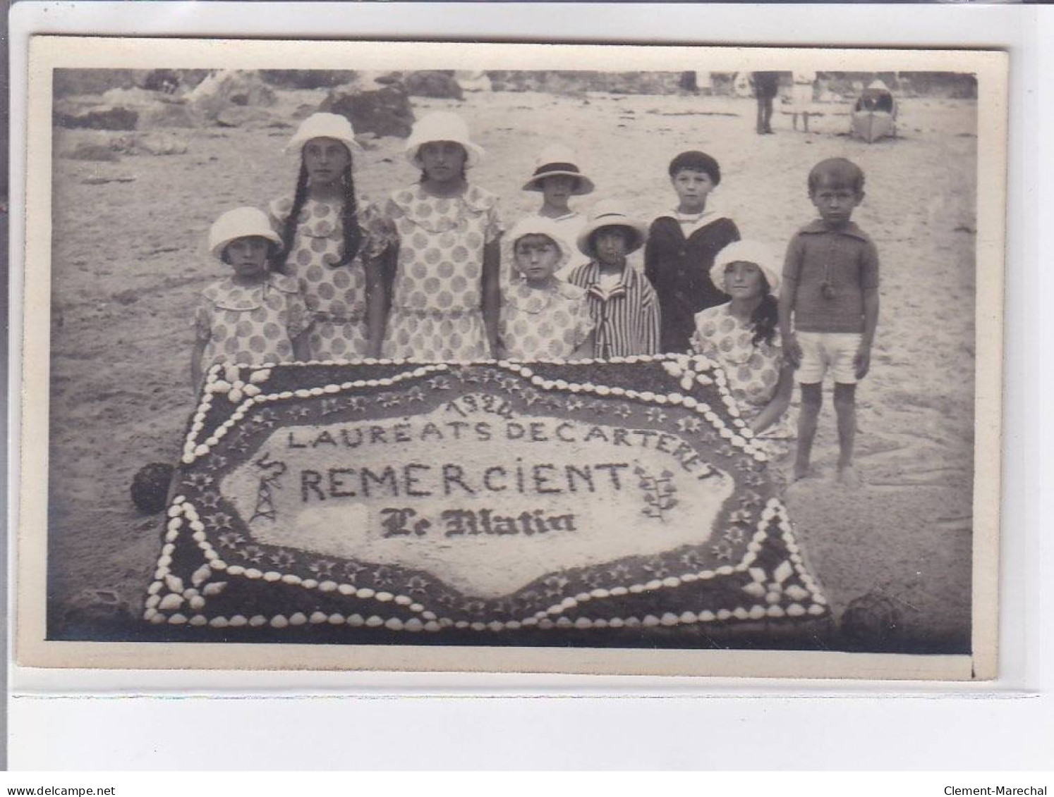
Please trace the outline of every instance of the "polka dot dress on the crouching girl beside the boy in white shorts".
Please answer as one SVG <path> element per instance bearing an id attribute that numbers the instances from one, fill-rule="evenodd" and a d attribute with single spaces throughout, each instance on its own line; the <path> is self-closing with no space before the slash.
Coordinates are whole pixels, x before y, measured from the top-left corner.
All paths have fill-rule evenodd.
<path id="1" fill-rule="evenodd" d="M 691 347 L 716 360 L 728 377 L 728 390 L 743 419 L 750 421 L 764 410 L 776 392 L 783 367 L 783 348 L 777 331 L 773 342 L 754 343 L 754 330 L 728 312 L 729 304 L 707 307 L 696 315 Z M 765 429 L 759 438 L 784 439 L 794 436 L 786 414 Z M 777 447 L 774 453 L 781 453 Z"/>

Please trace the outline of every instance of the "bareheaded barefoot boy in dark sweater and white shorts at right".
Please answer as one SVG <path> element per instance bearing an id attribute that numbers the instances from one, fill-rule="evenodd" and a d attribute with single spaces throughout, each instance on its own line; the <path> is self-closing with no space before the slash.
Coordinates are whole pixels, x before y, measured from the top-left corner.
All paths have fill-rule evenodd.
<path id="1" fill-rule="evenodd" d="M 878 252 L 851 220 L 863 200 L 863 172 L 844 158 L 820 161 L 808 173 L 808 198 L 820 218 L 790 239 L 780 294 L 784 356 L 798 368 L 801 383 L 793 476 L 797 480 L 808 473 L 820 388 L 829 370 L 838 417 L 838 480 L 855 485 L 856 383 L 871 365 L 878 323 Z"/>

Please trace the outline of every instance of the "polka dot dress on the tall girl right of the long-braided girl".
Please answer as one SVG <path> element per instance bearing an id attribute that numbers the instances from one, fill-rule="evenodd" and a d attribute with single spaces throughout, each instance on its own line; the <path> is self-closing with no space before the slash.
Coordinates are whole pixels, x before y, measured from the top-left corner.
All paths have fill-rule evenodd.
<path id="1" fill-rule="evenodd" d="M 490 357 L 483 322 L 484 245 L 502 226 L 497 197 L 468 186 L 433 197 L 419 185 L 395 192 L 385 210 L 398 235 L 398 263 L 385 357 Z"/>

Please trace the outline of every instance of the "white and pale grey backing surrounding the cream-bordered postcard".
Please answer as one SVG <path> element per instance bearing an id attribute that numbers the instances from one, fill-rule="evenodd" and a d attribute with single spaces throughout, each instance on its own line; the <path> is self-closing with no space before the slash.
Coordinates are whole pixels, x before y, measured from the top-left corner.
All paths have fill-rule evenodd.
<path id="1" fill-rule="evenodd" d="M 1054 443 L 1043 345 L 1052 264 L 1040 252 L 1051 251 L 1054 111 L 1045 104 L 1054 104 L 1054 92 L 1039 77 L 1054 75 L 1054 58 L 1040 54 L 1039 42 L 1054 41 L 1054 9 L 20 3 L 11 31 L 13 263 L 22 239 L 19 125 L 30 32 L 1009 49 L 1002 675 L 996 683 L 938 685 L 13 669 L 13 769 L 1051 765 L 1054 557 L 1052 502 L 1040 491 L 1052 482 L 1046 450 Z M 18 318 L 12 315 L 14 352 Z M 11 461 L 17 478 L 17 458 Z"/>

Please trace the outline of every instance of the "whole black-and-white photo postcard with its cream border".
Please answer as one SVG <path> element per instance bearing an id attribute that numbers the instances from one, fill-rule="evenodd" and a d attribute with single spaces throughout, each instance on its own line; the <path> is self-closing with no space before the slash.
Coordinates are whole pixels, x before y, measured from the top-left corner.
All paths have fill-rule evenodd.
<path id="1" fill-rule="evenodd" d="M 994 676 L 1002 55 L 207 45 L 31 53 L 23 663 Z"/>

